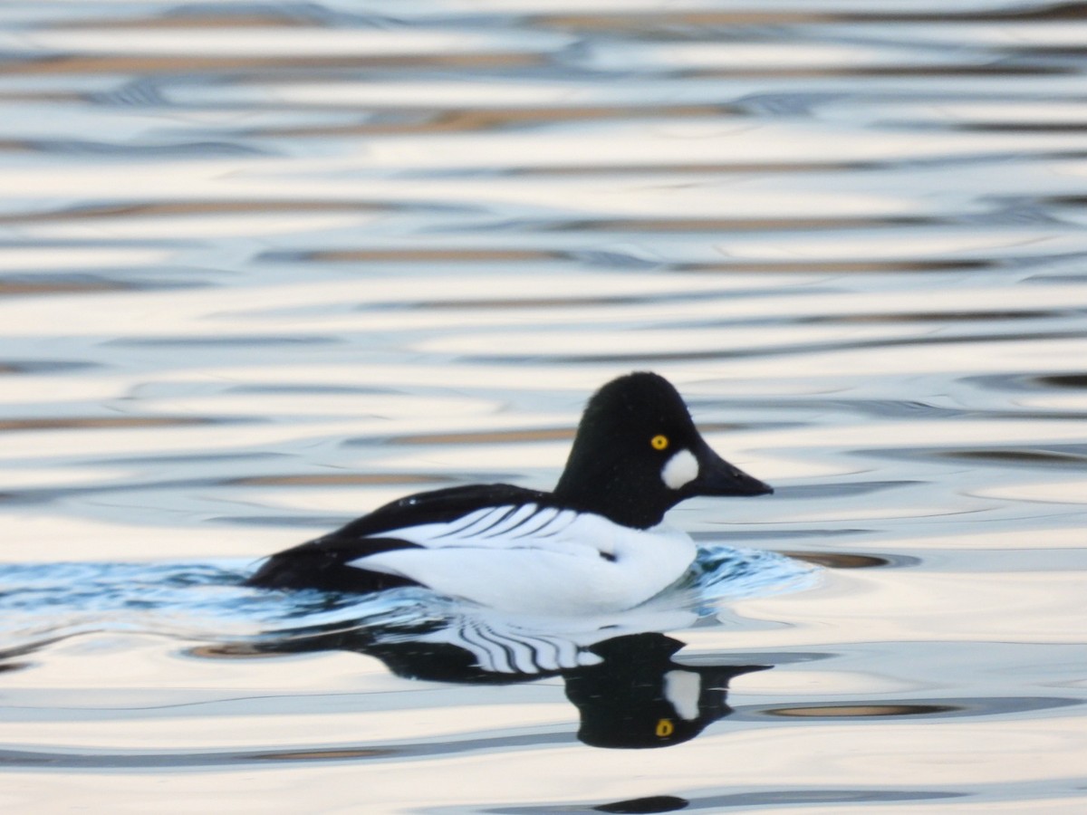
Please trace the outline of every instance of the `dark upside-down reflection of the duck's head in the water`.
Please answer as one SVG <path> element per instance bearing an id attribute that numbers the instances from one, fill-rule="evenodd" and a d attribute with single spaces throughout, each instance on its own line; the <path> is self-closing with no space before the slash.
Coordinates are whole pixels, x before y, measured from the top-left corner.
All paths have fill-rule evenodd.
<path id="1" fill-rule="evenodd" d="M 577 738 L 591 747 L 657 748 L 695 738 L 732 713 L 728 681 L 764 665 L 682 665 L 684 643 L 638 634 L 597 643 L 599 665 L 564 672 L 566 697 L 577 705 Z"/>

